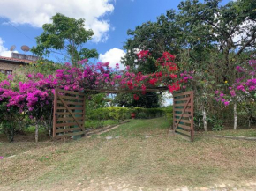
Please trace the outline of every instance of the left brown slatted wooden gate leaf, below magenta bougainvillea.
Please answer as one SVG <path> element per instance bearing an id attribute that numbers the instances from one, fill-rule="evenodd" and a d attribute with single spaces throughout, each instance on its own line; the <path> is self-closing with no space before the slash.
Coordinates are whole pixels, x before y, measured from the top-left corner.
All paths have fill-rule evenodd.
<path id="1" fill-rule="evenodd" d="M 55 90 L 53 138 L 85 135 L 85 94 Z"/>

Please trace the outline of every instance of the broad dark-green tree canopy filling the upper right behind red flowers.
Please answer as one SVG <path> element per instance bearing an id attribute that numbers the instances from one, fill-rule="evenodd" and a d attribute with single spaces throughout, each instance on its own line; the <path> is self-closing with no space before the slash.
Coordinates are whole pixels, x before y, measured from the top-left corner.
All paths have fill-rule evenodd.
<path id="1" fill-rule="evenodd" d="M 186 0 L 178 5 L 178 9 L 167 11 L 155 22 L 128 30 L 131 38 L 124 43 L 127 50 L 124 64 L 137 66 L 137 70 L 155 70 L 150 62 L 147 65 L 137 62 L 138 48 L 149 50 L 154 58 L 163 51 L 179 58 L 184 50 L 190 50 L 192 60 L 200 62 L 207 61 L 208 53 L 214 48 L 224 56 L 227 71 L 230 70 L 230 53 L 240 55 L 255 48 L 255 1 L 237 0 L 222 5 L 221 0 L 204 3 Z"/>

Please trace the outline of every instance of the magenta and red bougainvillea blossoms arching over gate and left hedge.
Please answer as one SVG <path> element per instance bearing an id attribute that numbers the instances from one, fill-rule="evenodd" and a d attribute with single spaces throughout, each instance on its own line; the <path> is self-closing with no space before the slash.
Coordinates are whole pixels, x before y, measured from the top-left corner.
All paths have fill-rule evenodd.
<path id="1" fill-rule="evenodd" d="M 149 59 L 150 53 L 148 50 L 141 51 L 138 57 Z M 140 89 L 146 93 L 148 87 L 167 86 L 169 92 L 174 92 L 180 89 L 181 82 L 187 80 L 185 77 L 192 78 L 189 73 L 184 73 L 182 79 L 178 79 L 178 68 L 174 59 L 175 56 L 164 52 L 155 62 L 158 70 L 152 74 L 134 73 L 129 66 L 125 70 L 119 70 L 118 64 L 116 68 L 111 68 L 109 62 L 92 64 L 85 59 L 79 62 L 79 67 L 73 67 L 67 62 L 53 75 L 29 73 L 26 80 L 15 87 L 11 87 L 15 77 L 8 77 L 0 83 L 0 101 L 7 101 L 8 107 L 19 107 L 20 112 L 31 112 L 33 117 L 33 111 L 52 103 L 55 88 L 74 92 L 85 89 Z M 254 84 L 254 81 L 248 84 Z M 139 100 L 139 96 L 134 94 L 133 99 Z"/>

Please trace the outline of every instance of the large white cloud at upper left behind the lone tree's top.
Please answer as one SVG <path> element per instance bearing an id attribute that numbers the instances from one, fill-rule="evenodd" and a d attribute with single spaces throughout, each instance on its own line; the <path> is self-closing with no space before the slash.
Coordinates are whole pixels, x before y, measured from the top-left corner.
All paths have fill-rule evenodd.
<path id="1" fill-rule="evenodd" d="M 85 18 L 86 28 L 94 31 L 94 42 L 108 39 L 108 20 L 102 17 L 114 11 L 113 0 L 1 0 L 0 16 L 15 24 L 41 27 L 57 12 L 72 18 Z"/>

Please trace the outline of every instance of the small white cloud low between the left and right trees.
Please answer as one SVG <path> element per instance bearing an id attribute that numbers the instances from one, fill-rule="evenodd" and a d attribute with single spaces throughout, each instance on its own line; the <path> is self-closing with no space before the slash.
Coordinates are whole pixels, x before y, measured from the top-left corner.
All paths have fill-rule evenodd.
<path id="1" fill-rule="evenodd" d="M 124 57 L 125 52 L 119 48 L 109 49 L 105 54 L 100 54 L 99 60 L 101 62 L 110 62 L 110 66 L 115 68 L 116 63 L 119 64 L 120 69 L 124 69 L 124 65 L 121 64 L 121 58 Z"/>

